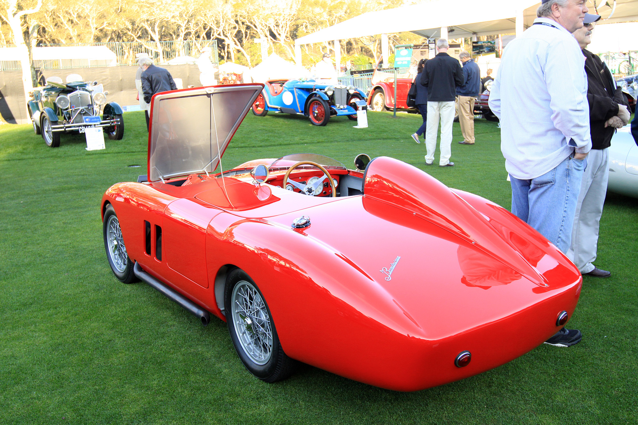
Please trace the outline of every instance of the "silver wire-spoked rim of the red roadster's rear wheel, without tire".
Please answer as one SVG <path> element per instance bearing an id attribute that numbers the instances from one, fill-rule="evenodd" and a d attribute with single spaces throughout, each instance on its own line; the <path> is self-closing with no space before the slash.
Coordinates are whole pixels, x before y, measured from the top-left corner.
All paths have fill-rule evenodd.
<path id="1" fill-rule="evenodd" d="M 272 326 L 268 309 L 257 288 L 246 280 L 235 285 L 230 298 L 235 334 L 246 356 L 256 364 L 272 356 Z"/>

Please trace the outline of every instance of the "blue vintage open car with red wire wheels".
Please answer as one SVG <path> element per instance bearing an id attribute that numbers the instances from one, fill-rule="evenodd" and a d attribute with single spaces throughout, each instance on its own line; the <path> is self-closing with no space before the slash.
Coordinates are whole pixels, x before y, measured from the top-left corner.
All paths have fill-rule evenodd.
<path id="1" fill-rule="evenodd" d="M 357 99 L 366 94 L 349 85 L 330 85 L 316 80 L 268 80 L 253 103 L 258 117 L 269 111 L 305 115 L 315 126 L 325 126 L 330 117 L 357 119 Z"/>

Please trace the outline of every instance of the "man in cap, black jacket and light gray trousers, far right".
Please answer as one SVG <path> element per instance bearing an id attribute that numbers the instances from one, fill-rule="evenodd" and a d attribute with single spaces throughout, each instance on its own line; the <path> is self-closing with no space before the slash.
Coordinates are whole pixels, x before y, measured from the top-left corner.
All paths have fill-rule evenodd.
<path id="1" fill-rule="evenodd" d="M 598 15 L 586 13 L 584 26 L 574 32 L 574 38 L 582 48 L 587 74 L 587 100 L 590 104 L 591 150 L 587 168 L 582 175 L 581 193 L 576 205 L 572 245 L 569 257 L 583 275 L 608 277 L 611 272 L 600 270 L 592 263 L 596 259 L 600 215 L 607 192 L 609 176 L 609 146 L 616 128 L 627 125 L 630 112 L 620 88 L 612 78 L 609 68 L 598 55 L 586 50 L 591 43 L 593 22 Z"/>

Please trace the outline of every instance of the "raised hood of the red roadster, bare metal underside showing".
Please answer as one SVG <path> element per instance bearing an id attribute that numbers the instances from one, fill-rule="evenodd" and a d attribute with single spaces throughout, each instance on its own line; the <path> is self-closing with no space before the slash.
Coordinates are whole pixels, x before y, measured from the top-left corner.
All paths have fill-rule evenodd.
<path id="1" fill-rule="evenodd" d="M 263 84 L 197 87 L 151 101 L 149 182 L 217 168 Z"/>

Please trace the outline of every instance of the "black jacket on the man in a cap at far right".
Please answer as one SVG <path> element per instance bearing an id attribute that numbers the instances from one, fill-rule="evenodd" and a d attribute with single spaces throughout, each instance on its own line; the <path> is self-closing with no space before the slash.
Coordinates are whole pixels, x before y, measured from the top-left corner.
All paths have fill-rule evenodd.
<path id="1" fill-rule="evenodd" d="M 605 127 L 605 122 L 618 115 L 618 104 L 628 106 L 620 87 L 614 88 L 611 71 L 589 50 L 582 49 L 587 74 L 587 101 L 590 104 L 591 148 L 604 149 L 611 145 L 616 129 Z"/>

